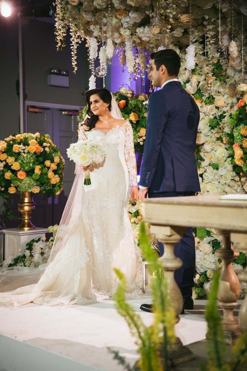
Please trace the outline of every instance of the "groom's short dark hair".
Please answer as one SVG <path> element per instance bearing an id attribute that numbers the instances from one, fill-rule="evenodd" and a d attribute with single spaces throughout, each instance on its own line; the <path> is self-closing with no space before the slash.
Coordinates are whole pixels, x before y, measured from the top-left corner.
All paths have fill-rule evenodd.
<path id="1" fill-rule="evenodd" d="M 160 66 L 164 65 L 167 69 L 168 76 L 177 76 L 181 66 L 180 56 L 173 49 L 159 50 L 152 53 L 150 59 L 154 59 L 157 71 Z"/>

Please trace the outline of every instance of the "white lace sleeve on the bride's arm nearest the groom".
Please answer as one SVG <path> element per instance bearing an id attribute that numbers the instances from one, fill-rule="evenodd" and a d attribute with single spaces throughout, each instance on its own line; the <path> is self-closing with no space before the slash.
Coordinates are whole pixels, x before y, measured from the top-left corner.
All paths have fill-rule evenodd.
<path id="1" fill-rule="evenodd" d="M 136 170 L 136 155 L 133 142 L 133 129 L 127 121 L 125 124 L 125 146 L 124 157 L 128 168 L 131 185 L 137 187 L 137 170 Z"/>

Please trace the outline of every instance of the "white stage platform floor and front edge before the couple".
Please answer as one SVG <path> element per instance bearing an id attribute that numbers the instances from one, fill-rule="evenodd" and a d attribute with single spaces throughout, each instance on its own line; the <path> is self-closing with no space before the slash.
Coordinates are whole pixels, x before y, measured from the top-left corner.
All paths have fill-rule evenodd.
<path id="1" fill-rule="evenodd" d="M 140 310 L 148 293 L 128 298 L 146 325 L 153 315 Z M 205 339 L 200 315 L 183 315 L 176 334 L 184 345 Z M 0 371 L 120 371 L 107 347 L 118 350 L 133 365 L 135 339 L 113 300 L 91 305 L 0 307 Z"/>

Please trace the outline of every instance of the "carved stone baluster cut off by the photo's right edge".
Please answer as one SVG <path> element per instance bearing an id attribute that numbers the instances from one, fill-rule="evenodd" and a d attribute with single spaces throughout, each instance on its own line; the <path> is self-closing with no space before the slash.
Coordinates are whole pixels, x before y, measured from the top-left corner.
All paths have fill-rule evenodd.
<path id="1" fill-rule="evenodd" d="M 247 255 L 247 233 L 231 233 L 231 240 L 236 242 L 238 249 Z M 238 278 L 241 282 L 247 283 L 247 267 L 238 274 Z M 247 295 L 240 307 L 238 324 L 241 332 L 247 331 Z"/>

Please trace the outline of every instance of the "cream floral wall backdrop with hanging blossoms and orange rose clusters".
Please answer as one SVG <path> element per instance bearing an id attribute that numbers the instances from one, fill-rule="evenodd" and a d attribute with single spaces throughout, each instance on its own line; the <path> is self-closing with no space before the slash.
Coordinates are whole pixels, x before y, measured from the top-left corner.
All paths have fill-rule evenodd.
<path id="1" fill-rule="evenodd" d="M 64 34 L 69 31 L 75 70 L 77 46 L 84 37 L 88 40 L 90 88 L 94 87 L 97 50 L 103 72 L 118 53 L 126 82 L 141 78 L 143 86 L 150 53 L 176 50 L 181 57 L 178 79 L 200 109 L 196 158 L 201 194 L 247 192 L 246 2 L 57 0 L 56 4 L 58 47 L 63 46 Z M 119 90 L 115 97 L 123 117 L 133 126 L 136 150 L 142 152 L 147 97 Z M 134 222 L 138 224 L 137 217 Z M 194 236 L 193 296 L 198 297 L 208 292 L 214 272 L 221 268 L 214 255 L 221 237 L 214 229 L 196 226 Z M 238 272 L 245 266 L 246 256 L 240 253 L 233 267 Z M 241 283 L 241 296 L 246 292 L 246 284 Z"/>

